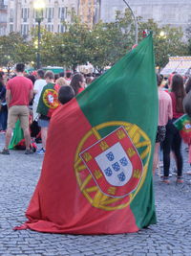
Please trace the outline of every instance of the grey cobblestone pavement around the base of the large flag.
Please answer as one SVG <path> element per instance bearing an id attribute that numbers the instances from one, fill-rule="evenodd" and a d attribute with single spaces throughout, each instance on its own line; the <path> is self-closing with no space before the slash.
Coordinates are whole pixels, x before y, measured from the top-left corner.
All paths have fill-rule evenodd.
<path id="1" fill-rule="evenodd" d="M 4 136 L 0 135 L 0 149 Z M 184 173 L 189 170 L 187 152 Z M 26 221 L 24 212 L 40 175 L 43 157 L 23 151 L 0 155 L 0 255 L 3 256 L 89 256 L 89 255 L 191 255 L 191 176 L 176 185 L 159 182 L 155 176 L 158 223 L 135 234 L 73 236 L 12 231 Z"/>

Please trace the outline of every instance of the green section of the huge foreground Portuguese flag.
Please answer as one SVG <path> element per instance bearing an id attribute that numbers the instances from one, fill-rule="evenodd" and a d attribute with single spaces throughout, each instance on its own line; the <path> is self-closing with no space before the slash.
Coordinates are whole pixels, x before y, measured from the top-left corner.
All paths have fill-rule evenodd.
<path id="1" fill-rule="evenodd" d="M 145 133 L 154 149 L 159 100 L 152 35 L 143 39 L 137 48 L 81 92 L 76 100 L 92 127 L 117 121 L 135 124 L 143 131 L 139 141 L 144 139 Z M 116 128 L 103 128 L 98 132 L 104 137 Z M 141 147 L 138 153 L 144 150 Z M 143 164 L 148 159 L 144 183 L 131 203 L 138 227 L 156 222 L 152 181 L 153 150 L 144 157 Z"/>

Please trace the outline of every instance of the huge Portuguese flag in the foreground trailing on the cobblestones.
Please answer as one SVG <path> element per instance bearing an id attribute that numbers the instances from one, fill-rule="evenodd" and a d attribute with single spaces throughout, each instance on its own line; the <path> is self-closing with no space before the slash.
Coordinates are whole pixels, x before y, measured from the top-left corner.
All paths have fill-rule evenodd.
<path id="1" fill-rule="evenodd" d="M 157 126 L 149 35 L 53 113 L 42 173 L 20 229 L 117 234 L 156 223 Z"/>

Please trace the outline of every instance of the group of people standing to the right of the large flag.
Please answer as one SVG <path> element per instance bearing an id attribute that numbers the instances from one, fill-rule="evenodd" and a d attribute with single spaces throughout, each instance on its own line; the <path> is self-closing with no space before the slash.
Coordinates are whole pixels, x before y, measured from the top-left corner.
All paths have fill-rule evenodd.
<path id="1" fill-rule="evenodd" d="M 171 159 L 175 159 L 177 183 L 183 183 L 182 170 L 182 138 L 180 130 L 176 128 L 175 122 L 185 113 L 191 117 L 191 111 L 184 105 L 186 94 L 191 93 L 191 78 L 183 78 L 176 72 L 165 82 L 162 75 L 157 75 L 159 86 L 159 126 L 154 153 L 153 173 L 155 174 L 159 165 L 159 146 L 162 151 L 163 175 L 161 181 L 169 184 L 169 171 Z M 191 107 L 191 101 L 188 103 Z M 191 125 L 191 123 L 190 123 Z M 191 166 L 191 137 L 188 141 L 189 164 Z M 187 175 L 191 175 L 188 171 Z"/>

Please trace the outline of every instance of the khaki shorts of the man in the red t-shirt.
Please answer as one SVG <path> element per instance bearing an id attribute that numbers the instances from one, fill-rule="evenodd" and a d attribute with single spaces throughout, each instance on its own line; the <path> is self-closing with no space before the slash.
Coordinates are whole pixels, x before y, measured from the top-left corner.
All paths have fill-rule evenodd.
<path id="1" fill-rule="evenodd" d="M 14 128 L 16 121 L 20 120 L 20 126 L 24 130 L 30 126 L 30 110 L 27 105 L 12 105 L 8 112 L 8 128 Z"/>

